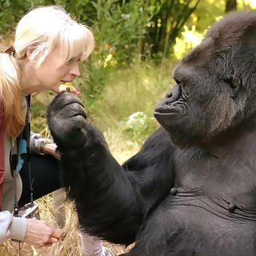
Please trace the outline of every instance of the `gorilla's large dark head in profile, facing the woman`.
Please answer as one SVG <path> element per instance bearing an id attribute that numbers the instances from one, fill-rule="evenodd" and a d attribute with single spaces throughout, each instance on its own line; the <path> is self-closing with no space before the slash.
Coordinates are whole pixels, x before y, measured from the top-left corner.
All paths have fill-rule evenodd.
<path id="1" fill-rule="evenodd" d="M 179 146 L 212 143 L 256 110 L 256 13 L 232 15 L 174 68 L 177 84 L 154 110 Z"/>

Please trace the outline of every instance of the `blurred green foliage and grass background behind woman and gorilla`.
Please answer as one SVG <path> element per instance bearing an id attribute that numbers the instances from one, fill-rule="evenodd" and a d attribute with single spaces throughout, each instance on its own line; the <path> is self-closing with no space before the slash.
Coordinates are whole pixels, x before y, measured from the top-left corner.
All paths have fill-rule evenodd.
<path id="1" fill-rule="evenodd" d="M 172 63 L 227 10 L 256 10 L 256 0 L 0 0 L 3 42 L 13 41 L 23 14 L 44 5 L 63 6 L 92 28 L 94 54 L 82 63 L 74 85 L 102 130 L 119 129 L 132 140 L 158 126 L 152 113 L 169 87 Z M 53 95 L 40 95 L 31 105 L 32 128 L 48 135 L 46 106 Z"/>

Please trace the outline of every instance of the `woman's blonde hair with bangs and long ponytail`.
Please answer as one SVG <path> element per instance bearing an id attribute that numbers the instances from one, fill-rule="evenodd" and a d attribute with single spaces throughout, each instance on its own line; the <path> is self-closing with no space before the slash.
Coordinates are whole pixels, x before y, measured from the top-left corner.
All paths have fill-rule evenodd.
<path id="1" fill-rule="evenodd" d="M 84 60 L 94 49 L 94 36 L 90 29 L 78 23 L 60 6 L 42 6 L 30 10 L 18 22 L 14 38 L 15 55 L 0 54 L 0 102 L 4 110 L 6 133 L 17 137 L 25 125 L 22 116 L 22 90 L 20 63 L 26 50 L 33 47 L 30 60 L 38 66 L 56 46 L 62 51 L 59 65 L 74 56 Z"/>

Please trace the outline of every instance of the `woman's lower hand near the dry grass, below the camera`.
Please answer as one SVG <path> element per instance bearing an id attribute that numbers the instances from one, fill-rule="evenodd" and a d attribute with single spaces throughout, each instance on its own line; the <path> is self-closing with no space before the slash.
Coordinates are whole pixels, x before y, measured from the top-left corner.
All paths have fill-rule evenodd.
<path id="1" fill-rule="evenodd" d="M 52 246 L 62 238 L 63 234 L 63 230 L 50 226 L 44 221 L 28 218 L 24 242 L 37 247 Z"/>

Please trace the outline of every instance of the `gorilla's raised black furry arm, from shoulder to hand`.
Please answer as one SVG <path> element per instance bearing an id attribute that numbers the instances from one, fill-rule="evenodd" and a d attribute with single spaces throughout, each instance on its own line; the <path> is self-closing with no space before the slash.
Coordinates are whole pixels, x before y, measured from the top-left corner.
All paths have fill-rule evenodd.
<path id="1" fill-rule="evenodd" d="M 58 95 L 54 101 L 61 97 L 65 96 Z M 62 104 L 65 106 L 61 113 L 54 102 L 50 105 L 48 122 L 58 144 L 63 181 L 70 188 L 79 223 L 90 234 L 128 245 L 134 242 L 150 209 L 162 201 L 174 182 L 170 138 L 159 129 L 138 154 L 120 166 L 110 154 L 102 133 L 86 120 L 79 135 L 79 121 L 75 118 L 85 116 L 79 113 L 83 109 L 74 106 L 78 100 L 73 95 L 64 99 L 68 103 Z M 74 114 L 66 118 L 72 110 Z M 58 123 L 62 123 L 61 129 Z"/>

